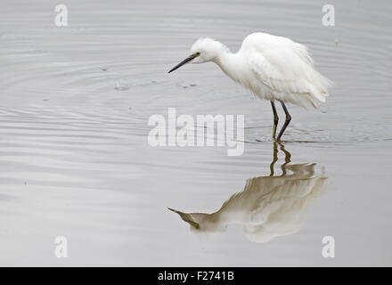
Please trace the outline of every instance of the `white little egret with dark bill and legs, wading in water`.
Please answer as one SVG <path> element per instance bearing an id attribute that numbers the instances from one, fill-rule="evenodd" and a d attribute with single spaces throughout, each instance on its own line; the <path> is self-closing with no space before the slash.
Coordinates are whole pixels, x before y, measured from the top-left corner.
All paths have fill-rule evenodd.
<path id="1" fill-rule="evenodd" d="M 172 72 L 186 63 L 213 61 L 228 77 L 241 84 L 260 99 L 271 101 L 274 112 L 273 138 L 278 126 L 275 101 L 281 102 L 286 120 L 278 134 L 290 124 L 291 116 L 285 102 L 314 108 L 317 99 L 325 102 L 331 81 L 314 69 L 314 61 L 305 45 L 287 37 L 254 33 L 246 37 L 237 53 L 231 53 L 223 44 L 210 38 L 200 38 L 191 48 L 191 55 L 181 61 Z"/>

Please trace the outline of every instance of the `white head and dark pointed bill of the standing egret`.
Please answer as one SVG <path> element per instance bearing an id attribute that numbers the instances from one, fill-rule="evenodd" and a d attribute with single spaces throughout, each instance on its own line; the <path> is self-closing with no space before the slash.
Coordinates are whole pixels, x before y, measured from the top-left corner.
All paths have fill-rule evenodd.
<path id="1" fill-rule="evenodd" d="M 228 48 L 216 40 L 205 37 L 198 39 L 191 47 L 191 55 L 184 61 L 178 63 L 168 73 L 179 69 L 186 63 L 203 63 L 208 61 L 216 61 L 219 54 L 228 52 Z"/>

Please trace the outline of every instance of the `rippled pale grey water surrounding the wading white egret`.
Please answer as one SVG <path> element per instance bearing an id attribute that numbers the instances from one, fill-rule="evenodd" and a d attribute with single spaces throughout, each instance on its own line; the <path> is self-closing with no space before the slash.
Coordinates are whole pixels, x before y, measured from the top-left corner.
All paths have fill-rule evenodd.
<path id="1" fill-rule="evenodd" d="M 392 265 L 390 1 L 329 1 L 334 27 L 323 1 L 70 0 L 68 27 L 56 4 L 0 9 L 0 265 Z M 281 144 L 270 103 L 214 64 L 167 74 L 199 37 L 236 51 L 256 31 L 307 45 L 334 82 L 317 110 L 288 106 Z M 151 147 L 169 107 L 245 115 L 243 155 Z M 225 205 L 208 233 L 186 216 Z"/>

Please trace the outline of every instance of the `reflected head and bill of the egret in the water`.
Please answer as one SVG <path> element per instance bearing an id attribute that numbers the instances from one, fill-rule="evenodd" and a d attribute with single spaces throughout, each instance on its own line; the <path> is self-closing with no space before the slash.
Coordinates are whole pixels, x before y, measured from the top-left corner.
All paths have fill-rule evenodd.
<path id="1" fill-rule="evenodd" d="M 168 208 L 170 211 L 178 214 L 186 223 L 191 225 L 192 232 L 222 232 L 226 225 L 219 223 L 214 214 L 205 213 L 184 213 L 173 208 Z"/>

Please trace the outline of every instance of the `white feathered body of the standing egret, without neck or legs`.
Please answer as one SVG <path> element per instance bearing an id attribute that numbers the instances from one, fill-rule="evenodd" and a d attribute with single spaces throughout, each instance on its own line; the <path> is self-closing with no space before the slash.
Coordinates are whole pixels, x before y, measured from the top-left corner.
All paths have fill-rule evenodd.
<path id="1" fill-rule="evenodd" d="M 285 37 L 252 34 L 242 43 L 239 55 L 248 61 L 259 85 L 250 90 L 260 98 L 306 107 L 314 99 L 325 102 L 330 81 L 314 69 L 305 45 Z"/>

